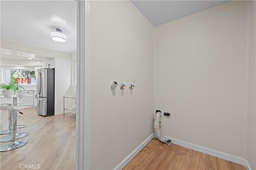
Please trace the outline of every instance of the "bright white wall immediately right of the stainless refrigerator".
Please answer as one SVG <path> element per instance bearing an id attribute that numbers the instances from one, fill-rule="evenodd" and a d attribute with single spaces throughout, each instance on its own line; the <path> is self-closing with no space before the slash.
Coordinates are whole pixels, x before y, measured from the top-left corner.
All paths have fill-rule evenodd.
<path id="1" fill-rule="evenodd" d="M 55 59 L 55 115 L 63 114 L 63 96 L 71 96 L 71 61 Z M 65 106 L 70 106 L 70 100 L 65 100 Z"/>

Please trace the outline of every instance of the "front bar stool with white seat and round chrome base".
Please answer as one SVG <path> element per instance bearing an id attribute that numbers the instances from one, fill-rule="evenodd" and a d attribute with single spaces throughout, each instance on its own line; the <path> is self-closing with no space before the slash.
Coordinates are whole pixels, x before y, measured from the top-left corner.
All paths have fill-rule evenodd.
<path id="1" fill-rule="evenodd" d="M 10 110 L 11 111 L 11 130 L 12 130 L 12 140 L 8 144 L 4 144 L 0 147 L 0 151 L 9 151 L 21 146 L 24 146 L 28 143 L 28 140 L 17 140 L 16 139 L 16 128 L 17 128 L 17 110 L 28 108 L 29 106 L 0 106 L 0 110 Z M 26 132 L 28 136 L 28 132 Z M 25 137 L 25 136 L 24 136 Z"/>

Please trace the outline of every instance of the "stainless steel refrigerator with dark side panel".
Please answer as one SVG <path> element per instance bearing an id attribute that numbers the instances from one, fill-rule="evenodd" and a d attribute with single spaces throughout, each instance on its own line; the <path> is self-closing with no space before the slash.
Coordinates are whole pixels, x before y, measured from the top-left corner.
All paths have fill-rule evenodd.
<path id="1" fill-rule="evenodd" d="M 55 69 L 42 68 L 37 73 L 36 113 L 43 116 L 54 115 Z"/>

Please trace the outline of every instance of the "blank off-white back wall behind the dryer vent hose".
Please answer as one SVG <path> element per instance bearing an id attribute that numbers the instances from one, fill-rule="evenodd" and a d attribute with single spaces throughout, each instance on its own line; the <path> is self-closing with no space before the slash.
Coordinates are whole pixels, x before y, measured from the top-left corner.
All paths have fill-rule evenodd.
<path id="1" fill-rule="evenodd" d="M 246 157 L 247 2 L 155 28 L 154 110 L 165 136 Z"/>

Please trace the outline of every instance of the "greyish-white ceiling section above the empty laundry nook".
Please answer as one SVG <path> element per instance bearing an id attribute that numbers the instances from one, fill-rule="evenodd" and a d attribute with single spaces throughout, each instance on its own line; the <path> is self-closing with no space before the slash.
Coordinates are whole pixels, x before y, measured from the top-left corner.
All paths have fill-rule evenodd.
<path id="1" fill-rule="evenodd" d="M 227 0 L 132 0 L 132 3 L 153 26 L 212 8 Z"/>

